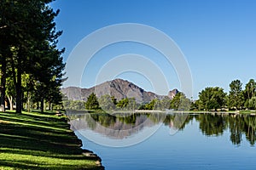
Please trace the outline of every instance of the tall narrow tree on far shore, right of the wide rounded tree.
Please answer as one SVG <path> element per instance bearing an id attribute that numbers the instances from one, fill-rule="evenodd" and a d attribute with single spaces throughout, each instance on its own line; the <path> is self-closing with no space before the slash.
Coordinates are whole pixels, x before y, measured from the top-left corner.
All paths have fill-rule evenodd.
<path id="1" fill-rule="evenodd" d="M 230 83 L 230 94 L 228 96 L 228 105 L 230 108 L 236 108 L 237 110 L 243 105 L 241 85 L 240 80 L 234 80 Z"/>

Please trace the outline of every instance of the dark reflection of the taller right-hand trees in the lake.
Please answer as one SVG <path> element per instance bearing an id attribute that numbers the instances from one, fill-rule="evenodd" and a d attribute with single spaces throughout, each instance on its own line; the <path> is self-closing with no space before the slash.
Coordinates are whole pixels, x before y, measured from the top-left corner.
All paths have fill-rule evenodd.
<path id="1" fill-rule="evenodd" d="M 195 120 L 200 123 L 201 132 L 207 136 L 222 135 L 224 130 L 229 129 L 232 144 L 240 145 L 243 134 L 251 145 L 255 144 L 256 116 L 201 114 L 195 116 Z"/>

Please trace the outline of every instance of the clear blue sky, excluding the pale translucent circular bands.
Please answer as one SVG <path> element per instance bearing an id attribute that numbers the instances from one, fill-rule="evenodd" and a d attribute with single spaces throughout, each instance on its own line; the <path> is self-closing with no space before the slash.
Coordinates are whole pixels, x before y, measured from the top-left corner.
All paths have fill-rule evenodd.
<path id="1" fill-rule="evenodd" d="M 61 9 L 55 21 L 63 30 L 59 47 L 66 48 L 65 60 L 91 32 L 114 24 L 138 23 L 165 32 L 177 43 L 190 67 L 194 99 L 206 87 L 219 86 L 228 92 L 232 80 L 246 84 L 250 78 L 256 79 L 254 0 L 56 0 L 51 6 Z M 167 77 L 169 88 L 179 88 L 175 70 L 156 57 L 160 54 L 132 42 L 102 49 L 84 75 L 95 77 L 104 62 L 128 53 L 153 60 Z M 154 91 L 150 80 L 142 75 L 125 72 L 118 77 Z M 82 79 L 83 88 L 94 85 L 93 79 Z"/>

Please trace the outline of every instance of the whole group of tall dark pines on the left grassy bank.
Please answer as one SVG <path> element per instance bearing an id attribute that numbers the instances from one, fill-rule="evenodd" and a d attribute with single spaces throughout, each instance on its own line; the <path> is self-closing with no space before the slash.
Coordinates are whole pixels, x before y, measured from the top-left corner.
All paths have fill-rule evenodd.
<path id="1" fill-rule="evenodd" d="M 0 1 L 1 110 L 6 101 L 20 113 L 26 103 L 44 110 L 61 102 L 63 63 L 52 0 Z"/>

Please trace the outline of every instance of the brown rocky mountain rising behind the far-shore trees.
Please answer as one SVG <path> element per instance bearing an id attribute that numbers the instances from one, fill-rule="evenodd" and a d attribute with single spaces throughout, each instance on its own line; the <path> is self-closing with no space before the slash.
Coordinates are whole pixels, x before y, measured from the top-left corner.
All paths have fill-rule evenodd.
<path id="1" fill-rule="evenodd" d="M 178 91 L 177 89 L 174 89 L 166 96 L 158 95 L 153 92 L 147 92 L 132 82 L 128 82 L 123 79 L 114 79 L 112 81 L 103 82 L 102 84 L 96 85 L 92 88 L 62 88 L 61 92 L 70 100 L 85 101 L 90 94 L 95 93 L 98 98 L 102 95 L 109 94 L 110 96 L 114 96 L 117 100 L 135 98 L 137 103 L 148 103 L 152 99 L 163 99 L 166 96 L 172 99 Z"/>

